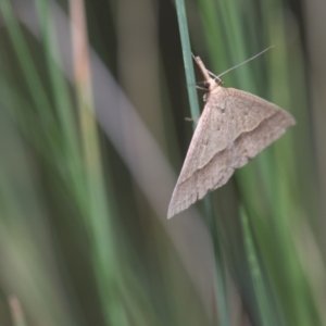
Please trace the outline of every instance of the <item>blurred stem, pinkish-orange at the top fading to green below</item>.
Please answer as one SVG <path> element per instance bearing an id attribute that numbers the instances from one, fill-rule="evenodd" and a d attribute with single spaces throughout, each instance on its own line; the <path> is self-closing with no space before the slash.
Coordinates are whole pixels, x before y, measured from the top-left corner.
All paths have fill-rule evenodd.
<path id="1" fill-rule="evenodd" d="M 80 118 L 89 227 L 96 279 L 108 325 L 128 325 L 121 301 L 120 271 L 112 233 L 112 205 L 105 196 L 99 135 L 91 90 L 87 28 L 83 0 L 71 0 L 73 62 Z"/>

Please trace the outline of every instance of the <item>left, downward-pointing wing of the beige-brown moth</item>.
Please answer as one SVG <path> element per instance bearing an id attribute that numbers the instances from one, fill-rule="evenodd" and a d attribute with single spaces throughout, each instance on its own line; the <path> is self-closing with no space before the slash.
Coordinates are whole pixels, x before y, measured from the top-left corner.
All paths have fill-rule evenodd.
<path id="1" fill-rule="evenodd" d="M 222 87 L 216 90 L 210 95 L 193 133 L 168 205 L 168 218 L 202 199 L 209 190 L 215 189 L 226 174 L 228 177 L 225 183 L 233 174 L 231 168 L 227 173 L 225 171 L 226 148 L 229 145 L 228 130 L 225 127 L 227 92 Z"/>

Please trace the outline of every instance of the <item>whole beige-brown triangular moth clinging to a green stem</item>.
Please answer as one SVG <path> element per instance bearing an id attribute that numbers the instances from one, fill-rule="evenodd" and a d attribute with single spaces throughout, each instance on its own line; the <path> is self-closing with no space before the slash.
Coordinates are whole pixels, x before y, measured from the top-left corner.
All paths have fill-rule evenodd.
<path id="1" fill-rule="evenodd" d="M 222 87 L 220 77 L 210 73 L 199 57 L 195 60 L 204 77 L 206 103 L 174 188 L 167 218 L 225 185 L 236 168 L 296 124 L 291 114 L 277 105 L 252 93 Z"/>

